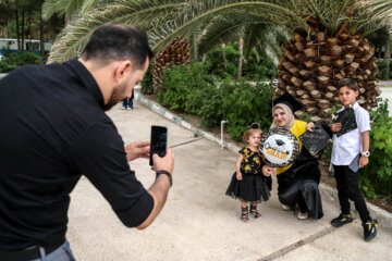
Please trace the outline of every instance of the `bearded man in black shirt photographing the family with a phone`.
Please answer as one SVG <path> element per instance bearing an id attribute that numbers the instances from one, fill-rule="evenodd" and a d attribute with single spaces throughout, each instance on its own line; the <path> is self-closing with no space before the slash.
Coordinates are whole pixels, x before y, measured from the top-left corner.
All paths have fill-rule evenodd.
<path id="1" fill-rule="evenodd" d="M 94 32 L 78 60 L 24 66 L 0 80 L 0 260 L 74 260 L 65 232 L 82 174 L 124 225 L 143 229 L 158 215 L 172 151 L 154 156 L 158 174 L 146 190 L 127 162 L 148 158 L 149 142 L 124 149 L 105 113 L 131 97 L 151 57 L 145 34 L 112 24 Z"/>

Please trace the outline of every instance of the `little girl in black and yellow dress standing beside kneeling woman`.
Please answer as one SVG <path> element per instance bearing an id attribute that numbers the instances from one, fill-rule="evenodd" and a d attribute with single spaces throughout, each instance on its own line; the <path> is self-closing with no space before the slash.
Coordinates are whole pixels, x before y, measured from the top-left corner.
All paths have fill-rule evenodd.
<path id="1" fill-rule="evenodd" d="M 250 201 L 250 214 L 259 220 L 260 213 L 257 211 L 257 203 L 261 200 L 267 201 L 270 197 L 271 177 L 265 171 L 259 150 L 262 130 L 258 123 L 253 123 L 244 135 L 247 142 L 242 150 L 236 163 L 236 172 L 233 174 L 226 195 L 241 200 L 241 220 L 247 222 L 248 206 Z"/>

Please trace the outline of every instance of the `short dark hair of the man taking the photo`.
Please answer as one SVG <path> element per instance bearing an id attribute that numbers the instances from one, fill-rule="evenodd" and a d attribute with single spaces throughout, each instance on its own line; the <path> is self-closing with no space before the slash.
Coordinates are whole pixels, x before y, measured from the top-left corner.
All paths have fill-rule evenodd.
<path id="1" fill-rule="evenodd" d="M 154 53 L 146 34 L 125 24 L 108 24 L 98 27 L 82 53 L 84 60 L 119 61 L 130 59 L 136 69 L 142 67 Z"/>

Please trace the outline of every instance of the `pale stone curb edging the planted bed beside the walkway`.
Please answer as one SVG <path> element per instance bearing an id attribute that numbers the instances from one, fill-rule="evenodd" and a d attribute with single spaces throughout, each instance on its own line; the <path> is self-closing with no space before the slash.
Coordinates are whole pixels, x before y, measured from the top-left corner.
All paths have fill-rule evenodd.
<path id="1" fill-rule="evenodd" d="M 219 145 L 222 145 L 221 139 L 219 137 L 215 136 L 212 133 L 205 132 L 203 129 L 199 129 L 199 128 L 193 126 L 191 123 L 182 120 L 181 117 L 179 117 L 177 115 L 168 111 L 166 108 L 161 107 L 157 102 L 146 99 L 137 90 L 135 91 L 135 100 L 138 103 L 140 103 L 142 105 L 149 109 L 150 111 L 154 111 L 154 112 L 164 116 L 166 119 L 179 124 L 180 126 L 194 132 L 197 136 L 201 136 L 206 139 L 209 139 Z M 235 153 L 237 153 L 238 150 L 241 150 L 241 148 L 238 146 L 233 145 L 228 141 L 223 141 L 223 146 L 226 149 L 229 149 Z M 332 188 L 327 184 L 320 183 L 319 189 L 320 189 L 320 194 L 323 198 L 330 199 L 331 201 L 335 201 L 336 203 L 339 203 L 336 188 Z M 388 232 L 392 232 L 392 213 L 389 213 L 388 211 L 380 209 L 379 207 L 373 206 L 372 203 L 369 203 L 369 202 L 366 202 L 366 206 L 368 207 L 371 217 L 379 221 L 379 226 L 387 228 Z"/>

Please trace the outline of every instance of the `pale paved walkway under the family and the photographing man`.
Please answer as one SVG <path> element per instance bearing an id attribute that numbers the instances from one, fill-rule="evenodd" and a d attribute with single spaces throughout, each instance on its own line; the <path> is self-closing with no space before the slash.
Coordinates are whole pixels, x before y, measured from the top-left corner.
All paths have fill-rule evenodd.
<path id="1" fill-rule="evenodd" d="M 72 192 L 68 238 L 77 260 L 392 260 L 392 233 L 379 229 L 363 240 L 359 217 L 342 228 L 330 220 L 339 214 L 335 200 L 323 197 L 324 217 L 298 221 L 283 211 L 273 181 L 271 199 L 259 206 L 261 220 L 240 221 L 240 202 L 224 195 L 237 153 L 135 103 L 109 113 L 126 144 L 149 140 L 152 124 L 169 129 L 175 154 L 174 185 L 167 204 L 145 231 L 124 227 L 102 196 L 82 177 Z M 148 187 L 155 174 L 147 160 L 131 163 Z"/>

